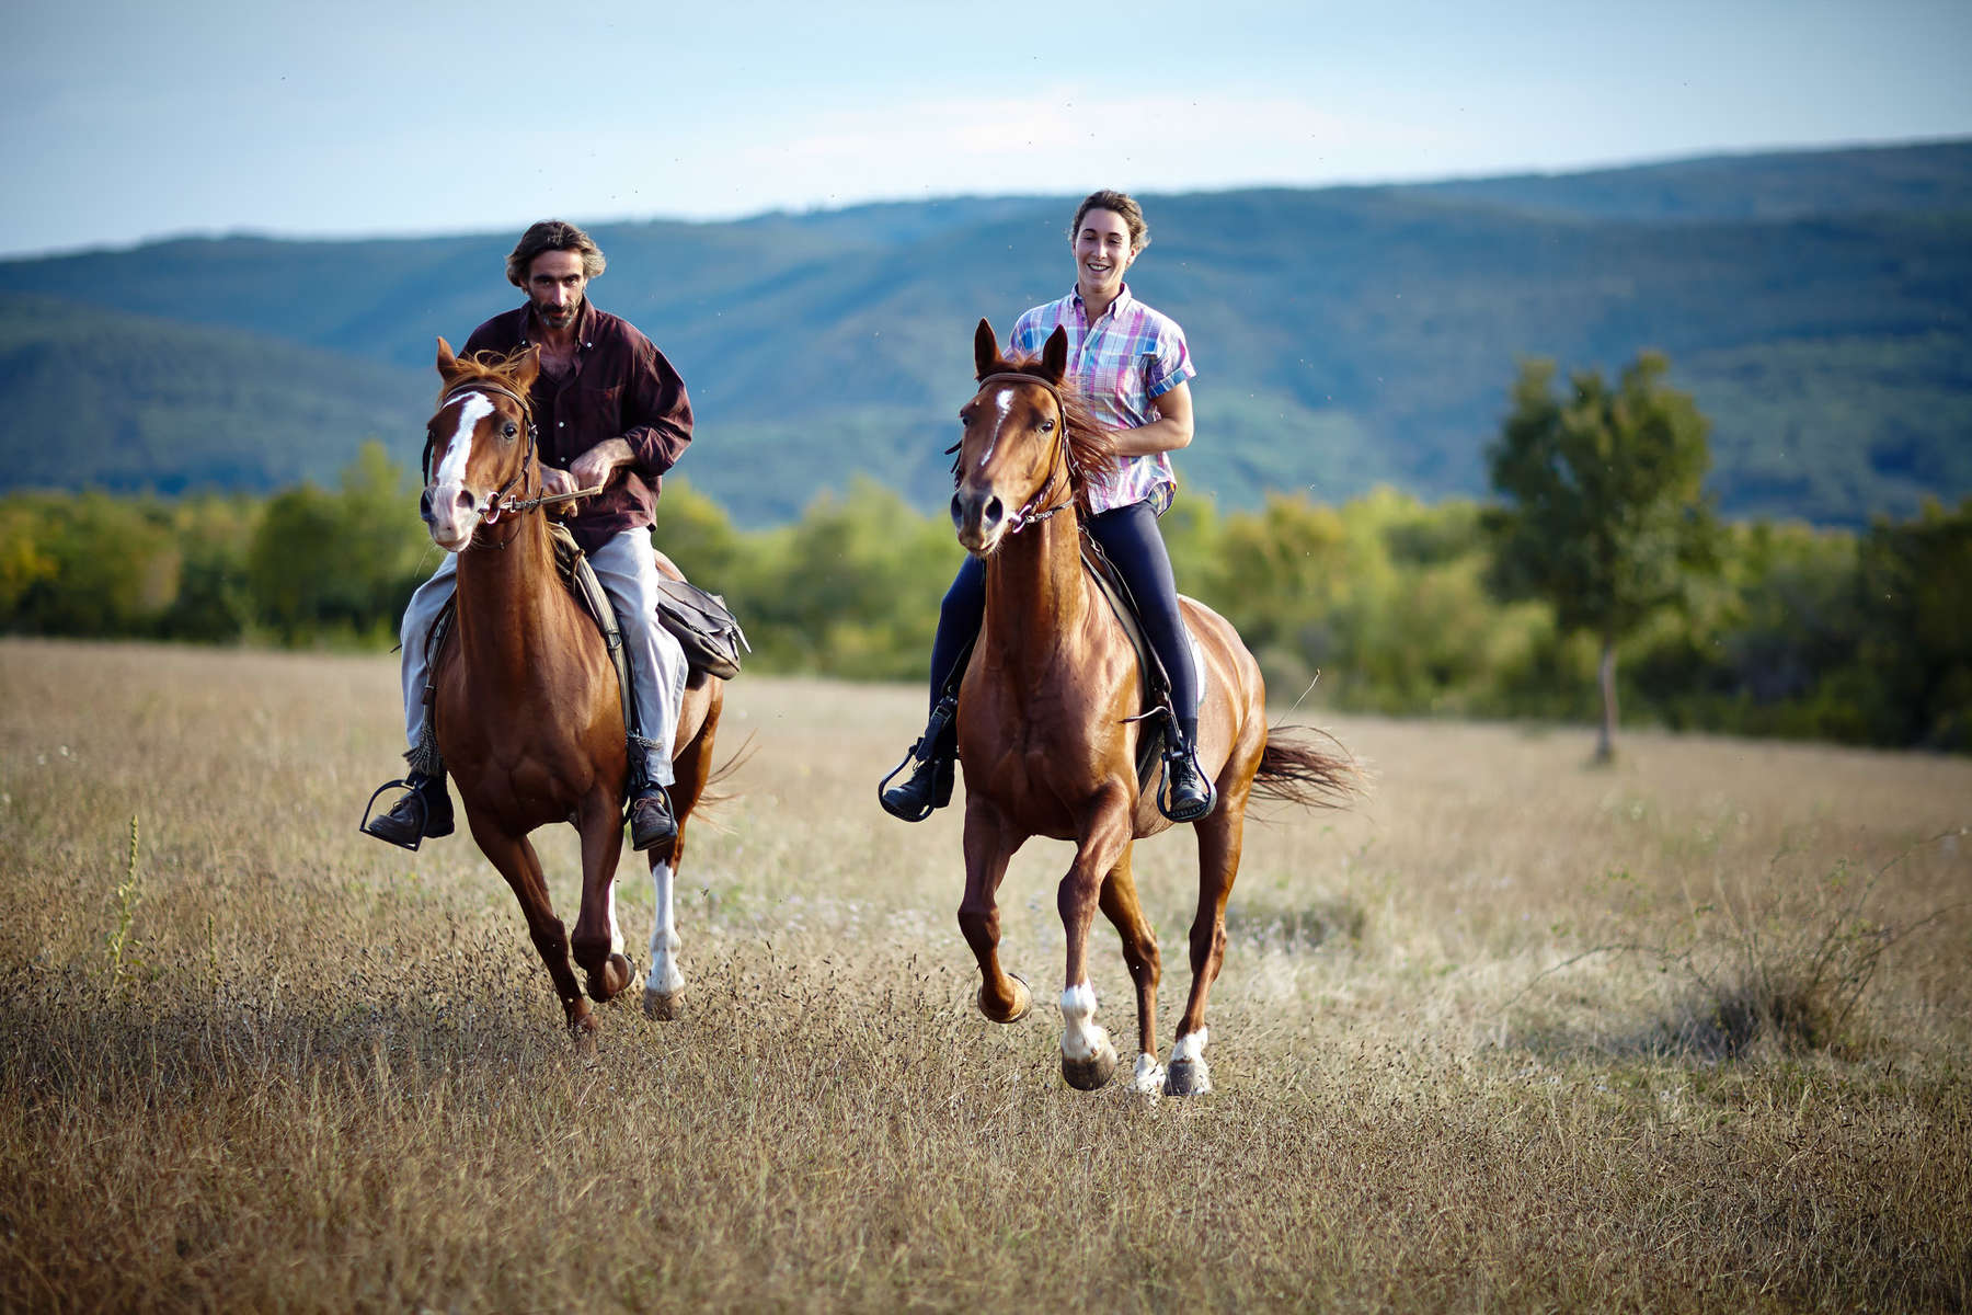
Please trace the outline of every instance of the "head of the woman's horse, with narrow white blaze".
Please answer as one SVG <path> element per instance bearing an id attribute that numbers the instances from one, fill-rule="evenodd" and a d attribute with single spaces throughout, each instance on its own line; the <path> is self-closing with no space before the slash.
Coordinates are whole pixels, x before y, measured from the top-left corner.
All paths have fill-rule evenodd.
<path id="1" fill-rule="evenodd" d="M 1073 442 L 1094 434 L 1063 394 L 1069 335 L 1055 329 L 1041 355 L 1008 361 L 992 325 L 972 335 L 980 390 L 958 410 L 964 434 L 952 463 L 952 528 L 974 556 L 990 556 L 1008 534 L 1053 515 L 1081 489 Z"/>

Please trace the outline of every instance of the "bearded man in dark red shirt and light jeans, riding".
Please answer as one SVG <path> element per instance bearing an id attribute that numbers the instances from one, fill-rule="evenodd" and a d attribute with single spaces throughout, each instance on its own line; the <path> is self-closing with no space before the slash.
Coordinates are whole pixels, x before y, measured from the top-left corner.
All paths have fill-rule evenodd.
<path id="1" fill-rule="evenodd" d="M 631 844 L 651 850 L 676 836 L 665 787 L 686 680 L 684 651 L 657 617 L 657 554 L 651 513 L 663 475 L 692 442 L 684 381 L 631 323 L 596 310 L 586 290 L 603 272 L 603 252 L 582 229 L 546 219 L 507 256 L 507 280 L 527 302 L 487 319 L 465 339 L 465 355 L 532 347 L 540 375 L 528 388 L 540 444 L 542 493 L 601 493 L 574 503 L 566 519 L 615 609 L 635 692 L 629 727 Z M 458 554 L 418 586 L 404 609 L 404 735 L 410 761 L 404 795 L 365 830 L 416 848 L 454 830 L 446 769 L 432 735 L 426 688 L 432 621 L 452 599 Z"/>

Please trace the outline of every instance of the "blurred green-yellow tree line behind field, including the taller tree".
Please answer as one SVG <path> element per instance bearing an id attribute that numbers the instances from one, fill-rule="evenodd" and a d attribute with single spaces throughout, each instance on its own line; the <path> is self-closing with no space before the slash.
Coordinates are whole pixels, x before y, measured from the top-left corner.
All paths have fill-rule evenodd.
<path id="1" fill-rule="evenodd" d="M 1552 365 L 1526 363 L 1491 451 L 1495 503 L 1376 489 L 1219 513 L 1181 493 L 1163 520 L 1179 588 L 1240 629 L 1278 706 L 1554 722 L 1607 706 L 1613 722 L 1621 702 L 1631 724 L 1972 751 L 1972 499 L 1862 532 L 1720 524 L 1696 499 L 1686 467 L 1696 450 L 1702 469 L 1704 434 L 1676 394 L 1668 428 L 1639 438 L 1651 426 L 1635 412 L 1664 394 L 1660 377 L 1645 359 L 1615 388 L 1576 373 L 1556 400 Z M 1584 420 L 1597 408 L 1631 416 L 1629 438 L 1597 438 Z M 1589 453 L 1574 473 L 1558 446 L 1526 440 L 1542 426 L 1554 440 L 1566 416 Z M 1660 481 L 1670 511 L 1629 507 L 1631 556 L 1597 601 L 1582 584 L 1611 564 L 1595 528 L 1556 538 L 1530 517 L 1556 489 L 1593 483 L 1584 475 L 1625 442 L 1674 475 Z M 749 670 L 852 680 L 923 678 L 962 552 L 941 517 L 868 481 L 793 524 L 745 530 L 670 479 L 653 532 L 732 603 Z M 14 635 L 385 649 L 436 564 L 414 475 L 377 444 L 335 487 L 272 497 L 0 499 L 0 629 Z"/>

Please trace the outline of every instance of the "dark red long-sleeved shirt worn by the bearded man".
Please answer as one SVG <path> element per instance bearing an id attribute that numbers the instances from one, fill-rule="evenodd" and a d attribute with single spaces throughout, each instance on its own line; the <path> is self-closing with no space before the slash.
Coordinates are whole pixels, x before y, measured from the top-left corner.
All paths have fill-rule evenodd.
<path id="1" fill-rule="evenodd" d="M 473 329 L 465 353 L 519 351 L 530 343 L 532 331 L 532 308 L 521 306 Z M 576 503 L 576 515 L 568 517 L 584 552 L 621 530 L 647 528 L 665 471 L 692 442 L 692 402 L 665 353 L 635 325 L 584 298 L 576 317 L 574 369 L 562 379 L 542 371 L 528 400 L 544 465 L 568 469 L 570 461 L 609 438 L 621 438 L 635 453 L 607 489 Z"/>

